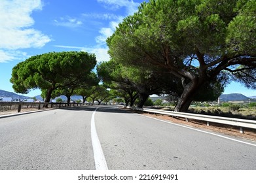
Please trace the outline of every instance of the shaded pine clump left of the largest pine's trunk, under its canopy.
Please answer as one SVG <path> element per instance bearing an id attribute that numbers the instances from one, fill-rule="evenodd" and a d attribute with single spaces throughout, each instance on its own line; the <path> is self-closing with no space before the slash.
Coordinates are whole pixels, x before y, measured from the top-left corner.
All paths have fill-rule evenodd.
<path id="1" fill-rule="evenodd" d="M 149 95 L 169 93 L 177 95 L 180 92 L 181 83 L 163 69 L 153 71 L 149 68 L 130 67 L 122 65 L 113 59 L 100 63 L 97 66 L 101 80 L 108 84 L 109 88 L 123 90 L 124 99 L 130 95 L 130 106 L 139 97 L 138 107 L 142 107 Z M 127 104 L 127 101 L 126 101 Z"/>

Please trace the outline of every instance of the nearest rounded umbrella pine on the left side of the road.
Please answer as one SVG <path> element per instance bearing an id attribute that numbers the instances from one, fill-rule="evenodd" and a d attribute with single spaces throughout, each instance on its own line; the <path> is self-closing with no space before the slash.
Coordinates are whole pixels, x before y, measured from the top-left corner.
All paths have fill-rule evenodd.
<path id="1" fill-rule="evenodd" d="M 50 101 L 56 89 L 74 88 L 90 83 L 96 56 L 86 52 L 50 52 L 32 56 L 12 69 L 12 88 L 27 93 L 39 88 L 46 91 L 45 101 Z"/>

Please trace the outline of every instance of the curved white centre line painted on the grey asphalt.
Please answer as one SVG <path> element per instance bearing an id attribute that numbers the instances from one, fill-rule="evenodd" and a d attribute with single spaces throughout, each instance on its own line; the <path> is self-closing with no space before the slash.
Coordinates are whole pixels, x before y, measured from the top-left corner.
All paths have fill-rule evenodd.
<path id="1" fill-rule="evenodd" d="M 97 110 L 98 108 L 96 108 Z M 105 156 L 103 154 L 100 140 L 97 135 L 96 126 L 95 126 L 95 120 L 94 116 L 96 113 L 96 110 L 92 113 L 92 119 L 91 119 L 91 137 L 92 137 L 92 148 L 94 150 L 94 162 L 95 162 L 95 168 L 96 170 L 108 170 L 107 162 L 105 159 Z"/>

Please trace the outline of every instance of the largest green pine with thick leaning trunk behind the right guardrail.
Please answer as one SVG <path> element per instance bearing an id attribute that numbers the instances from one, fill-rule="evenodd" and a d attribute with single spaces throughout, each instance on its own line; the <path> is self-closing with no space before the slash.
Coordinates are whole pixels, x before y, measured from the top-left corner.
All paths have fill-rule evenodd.
<path id="1" fill-rule="evenodd" d="M 256 89 L 256 1 L 149 0 L 107 39 L 123 65 L 166 69 L 183 92 L 175 107 L 187 111 L 203 88 L 230 79 Z"/>

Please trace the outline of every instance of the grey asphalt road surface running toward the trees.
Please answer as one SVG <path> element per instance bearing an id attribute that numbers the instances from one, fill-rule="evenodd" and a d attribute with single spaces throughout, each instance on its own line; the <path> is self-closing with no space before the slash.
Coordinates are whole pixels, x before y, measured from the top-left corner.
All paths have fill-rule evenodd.
<path id="1" fill-rule="evenodd" d="M 94 144 L 97 141 L 100 146 Z M 107 169 L 256 169 L 256 142 L 114 107 L 54 109 L 0 118 L 2 170 L 93 170 L 98 152 Z"/>

